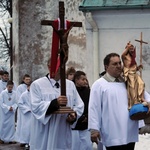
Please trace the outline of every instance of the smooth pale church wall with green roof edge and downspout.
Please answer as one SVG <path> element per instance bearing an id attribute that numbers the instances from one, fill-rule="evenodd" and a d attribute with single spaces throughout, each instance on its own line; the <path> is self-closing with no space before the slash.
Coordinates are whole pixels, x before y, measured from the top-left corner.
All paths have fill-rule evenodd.
<path id="1" fill-rule="evenodd" d="M 130 41 L 136 46 L 140 65 L 142 40 L 142 78 L 150 92 L 150 1 L 149 0 L 83 0 L 79 10 L 86 17 L 86 48 L 93 50 L 93 71 L 102 72 L 103 58 L 110 52 L 122 54 Z"/>

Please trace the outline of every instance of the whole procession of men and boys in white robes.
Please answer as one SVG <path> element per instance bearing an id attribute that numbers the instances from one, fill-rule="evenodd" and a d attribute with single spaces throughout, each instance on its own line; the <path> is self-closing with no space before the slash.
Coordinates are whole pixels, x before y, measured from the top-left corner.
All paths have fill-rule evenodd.
<path id="1" fill-rule="evenodd" d="M 120 56 L 106 55 L 105 71 L 91 87 L 85 72 L 68 68 L 66 95 L 60 91 L 60 70 L 50 77 L 50 61 L 46 76 L 32 82 L 25 74 L 19 86 L 1 72 L 0 143 L 19 142 L 31 150 L 92 150 L 93 142 L 101 141 L 107 150 L 134 150 L 139 121 L 129 117 Z M 144 100 L 150 101 L 146 91 Z M 73 112 L 58 113 L 63 106 Z"/>

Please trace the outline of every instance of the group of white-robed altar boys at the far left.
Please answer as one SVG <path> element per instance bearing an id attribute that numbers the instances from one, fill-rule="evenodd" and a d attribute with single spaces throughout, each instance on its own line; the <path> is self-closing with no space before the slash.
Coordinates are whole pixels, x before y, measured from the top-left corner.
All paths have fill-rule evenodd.
<path id="1" fill-rule="evenodd" d="M 28 87 L 31 77 L 25 74 L 19 86 L 9 80 L 9 73 L 1 71 L 0 80 L 0 143 L 15 144 L 20 142 L 23 147 L 29 144 L 30 118 L 31 114 Z M 28 110 L 29 109 L 29 110 Z M 20 117 L 21 116 L 21 117 Z M 29 122 L 29 123 L 28 123 Z M 27 127 L 27 128 L 26 128 Z M 28 135 L 28 137 L 27 137 Z"/>

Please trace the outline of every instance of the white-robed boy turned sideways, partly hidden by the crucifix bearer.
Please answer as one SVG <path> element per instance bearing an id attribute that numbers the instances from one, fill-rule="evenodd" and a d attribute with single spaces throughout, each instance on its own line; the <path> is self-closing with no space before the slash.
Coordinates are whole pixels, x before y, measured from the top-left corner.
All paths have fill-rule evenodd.
<path id="1" fill-rule="evenodd" d="M 23 92 L 18 101 L 18 108 L 22 112 L 20 124 L 20 143 L 29 146 L 31 129 L 31 105 L 30 105 L 30 85 Z"/>

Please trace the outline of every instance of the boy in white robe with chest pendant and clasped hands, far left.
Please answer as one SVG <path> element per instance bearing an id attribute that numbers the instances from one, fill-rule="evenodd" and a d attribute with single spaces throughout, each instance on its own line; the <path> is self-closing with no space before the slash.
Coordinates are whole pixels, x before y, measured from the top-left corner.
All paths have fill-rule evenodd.
<path id="1" fill-rule="evenodd" d="M 7 88 L 0 95 L 2 108 L 1 140 L 14 142 L 15 140 L 15 112 L 17 109 L 16 92 L 13 91 L 14 83 L 7 82 Z"/>

